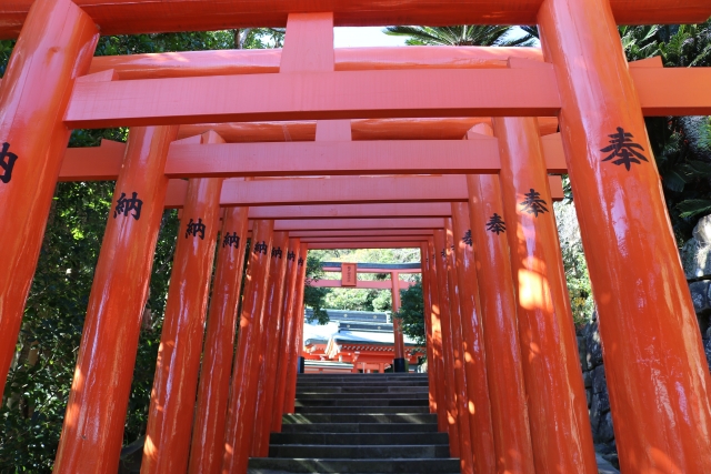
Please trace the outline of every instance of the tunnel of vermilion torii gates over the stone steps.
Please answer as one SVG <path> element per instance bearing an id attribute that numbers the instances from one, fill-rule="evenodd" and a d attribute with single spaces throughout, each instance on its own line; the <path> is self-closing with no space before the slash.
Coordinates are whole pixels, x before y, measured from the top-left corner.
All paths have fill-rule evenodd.
<path id="1" fill-rule="evenodd" d="M 18 38 L 0 85 L 3 384 L 56 182 L 117 180 L 54 472 L 117 471 L 168 206 L 182 223 L 142 473 L 241 474 L 263 455 L 293 410 L 307 252 L 349 246 L 421 249 L 430 406 L 463 472 L 595 473 L 555 173 L 575 194 L 622 472 L 711 472 L 711 380 L 643 121 L 711 114 L 711 70 L 628 63 L 617 31 L 710 14 L 709 0 L 2 2 L 0 37 Z M 542 49 L 334 51 L 334 26 L 380 24 L 538 24 Z M 283 50 L 92 58 L 100 33 L 252 26 L 287 27 Z M 67 150 L 71 129 L 107 127 L 128 144 Z"/>

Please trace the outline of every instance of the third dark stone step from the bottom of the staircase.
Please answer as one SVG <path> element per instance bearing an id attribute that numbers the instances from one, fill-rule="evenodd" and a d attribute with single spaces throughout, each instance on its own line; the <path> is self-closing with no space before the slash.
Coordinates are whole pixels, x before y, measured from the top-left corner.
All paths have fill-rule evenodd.
<path id="1" fill-rule="evenodd" d="M 375 425 L 381 426 L 381 425 Z M 412 426 L 410 426 L 412 430 Z M 274 445 L 448 445 L 447 433 L 272 433 L 270 443 Z"/>

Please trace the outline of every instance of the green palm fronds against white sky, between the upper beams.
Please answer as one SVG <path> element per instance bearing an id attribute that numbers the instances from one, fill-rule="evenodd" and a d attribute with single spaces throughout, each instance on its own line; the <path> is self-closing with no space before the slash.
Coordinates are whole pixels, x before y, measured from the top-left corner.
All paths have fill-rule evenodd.
<path id="1" fill-rule="evenodd" d="M 514 36 L 514 27 L 501 26 L 387 27 L 383 33 L 409 37 L 405 41 L 409 46 L 530 47 L 535 44 L 535 38 L 531 34 Z"/>

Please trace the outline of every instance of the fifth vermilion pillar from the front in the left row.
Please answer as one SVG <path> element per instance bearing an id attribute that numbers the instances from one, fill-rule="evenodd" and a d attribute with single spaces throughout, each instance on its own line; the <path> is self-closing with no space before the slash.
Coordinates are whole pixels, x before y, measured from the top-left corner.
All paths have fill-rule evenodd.
<path id="1" fill-rule="evenodd" d="M 259 355 L 263 352 L 260 322 L 267 301 L 273 230 L 274 221 L 272 220 L 257 220 L 252 224 L 242 314 L 232 371 L 232 394 L 224 435 L 223 473 L 247 472 L 251 437 L 254 432 Z"/>

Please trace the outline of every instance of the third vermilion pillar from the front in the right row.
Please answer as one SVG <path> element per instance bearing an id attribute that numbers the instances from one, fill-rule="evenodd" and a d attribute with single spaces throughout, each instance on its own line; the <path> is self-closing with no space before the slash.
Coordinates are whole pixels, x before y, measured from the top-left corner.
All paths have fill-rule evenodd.
<path id="1" fill-rule="evenodd" d="M 534 474 L 499 177 L 468 175 L 497 472 Z"/>

